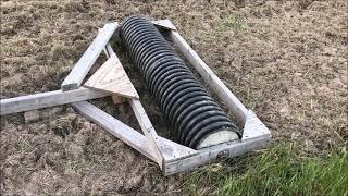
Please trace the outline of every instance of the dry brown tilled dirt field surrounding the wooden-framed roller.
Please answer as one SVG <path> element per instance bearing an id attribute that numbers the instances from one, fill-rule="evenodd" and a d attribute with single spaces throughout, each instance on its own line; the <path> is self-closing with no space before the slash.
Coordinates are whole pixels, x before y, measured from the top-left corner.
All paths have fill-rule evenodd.
<path id="1" fill-rule="evenodd" d="M 1 98 L 59 89 L 107 21 L 170 19 L 270 127 L 274 143 L 325 154 L 348 139 L 347 9 L 346 0 L 2 1 Z M 136 69 L 122 49 L 117 53 L 166 135 Z M 128 106 L 94 102 L 137 127 Z M 71 107 L 36 114 L 35 122 L 23 113 L 1 118 L 1 195 L 185 194 L 185 174 L 163 177 L 153 162 Z"/>

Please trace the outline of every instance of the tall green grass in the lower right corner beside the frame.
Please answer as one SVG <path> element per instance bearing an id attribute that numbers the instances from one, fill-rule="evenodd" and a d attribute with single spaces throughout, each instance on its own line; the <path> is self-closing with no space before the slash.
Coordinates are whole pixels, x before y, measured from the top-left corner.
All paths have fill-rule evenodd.
<path id="1" fill-rule="evenodd" d="M 184 179 L 191 195 L 348 195 L 348 152 L 328 157 L 299 154 L 282 144 L 259 155 L 198 169 Z"/>

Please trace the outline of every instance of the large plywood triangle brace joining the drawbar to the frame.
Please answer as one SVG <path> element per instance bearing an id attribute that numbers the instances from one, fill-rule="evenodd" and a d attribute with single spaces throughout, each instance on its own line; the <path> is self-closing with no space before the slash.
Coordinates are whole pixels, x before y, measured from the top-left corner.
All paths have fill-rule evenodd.
<path id="1" fill-rule="evenodd" d="M 112 54 L 84 84 L 117 96 L 139 99 L 139 95 L 124 71 L 119 58 Z"/>

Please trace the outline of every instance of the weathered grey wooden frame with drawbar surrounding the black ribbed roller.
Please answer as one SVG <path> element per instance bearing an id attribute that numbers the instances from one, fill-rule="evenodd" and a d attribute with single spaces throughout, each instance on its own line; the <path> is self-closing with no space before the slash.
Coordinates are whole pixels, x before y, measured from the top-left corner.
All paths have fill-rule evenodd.
<path id="1" fill-rule="evenodd" d="M 259 149 L 271 139 L 271 132 L 221 82 L 211 69 L 190 48 L 169 20 L 152 22 L 161 29 L 190 62 L 204 82 L 225 103 L 236 120 L 244 125 L 240 138 L 219 145 L 192 149 L 159 136 L 139 101 L 139 96 L 113 51 L 110 39 L 120 40 L 116 22 L 101 28 L 61 85 L 61 90 L 0 100 L 1 115 L 34 109 L 71 103 L 82 114 L 138 150 L 159 164 L 164 175 L 189 170 L 194 167 L 243 155 Z M 104 51 L 108 60 L 83 84 L 99 54 Z M 115 105 L 128 101 L 144 135 L 103 112 L 87 100 L 112 96 Z"/>

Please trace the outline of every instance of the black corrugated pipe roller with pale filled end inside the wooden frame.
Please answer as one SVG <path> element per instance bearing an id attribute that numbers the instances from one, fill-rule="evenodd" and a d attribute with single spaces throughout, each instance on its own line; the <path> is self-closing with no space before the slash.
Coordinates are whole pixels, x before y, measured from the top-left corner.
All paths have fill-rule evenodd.
<path id="1" fill-rule="evenodd" d="M 197 149 L 239 137 L 236 125 L 151 22 L 128 17 L 121 37 L 179 144 Z"/>

